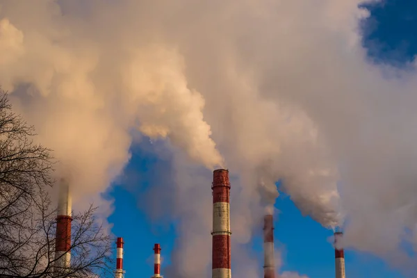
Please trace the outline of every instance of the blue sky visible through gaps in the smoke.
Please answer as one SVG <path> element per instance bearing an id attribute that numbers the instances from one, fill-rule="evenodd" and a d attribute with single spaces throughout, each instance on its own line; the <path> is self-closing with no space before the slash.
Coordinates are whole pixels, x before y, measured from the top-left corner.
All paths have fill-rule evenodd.
<path id="1" fill-rule="evenodd" d="M 417 2 L 389 0 L 365 7 L 370 10 L 371 17 L 362 24 L 363 45 L 368 49 L 370 60 L 403 66 L 417 52 Z M 170 167 L 169 162 L 158 161 L 152 152 L 145 152 L 148 147 L 149 144 L 144 143 L 132 148 L 133 157 L 125 171 L 126 183 L 129 184 L 122 181 L 108 192 L 108 197 L 115 199 L 115 211 L 109 218 L 114 224 L 113 234 L 123 236 L 126 242 L 126 277 L 152 276 L 154 243 L 161 243 L 164 265 L 168 265 L 177 236 L 174 223 L 157 225 L 138 204 L 138 196 L 158 183 L 158 171 Z M 132 187 L 132 183 L 136 186 Z M 285 250 L 282 270 L 297 271 L 310 278 L 334 277 L 334 250 L 328 242 L 332 231 L 322 228 L 309 217 L 303 217 L 284 195 L 279 197 L 276 207 L 281 211 L 279 219 L 275 219 L 276 244 Z M 252 246 L 254 254 L 261 254 L 261 240 L 255 240 Z M 345 259 L 349 278 L 402 277 L 369 254 L 346 250 Z"/>

